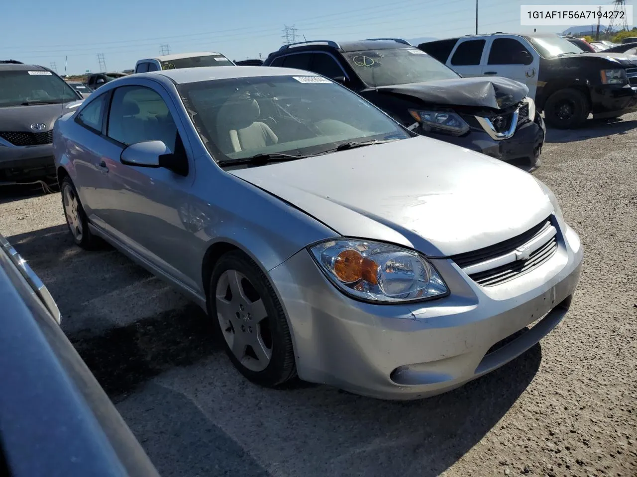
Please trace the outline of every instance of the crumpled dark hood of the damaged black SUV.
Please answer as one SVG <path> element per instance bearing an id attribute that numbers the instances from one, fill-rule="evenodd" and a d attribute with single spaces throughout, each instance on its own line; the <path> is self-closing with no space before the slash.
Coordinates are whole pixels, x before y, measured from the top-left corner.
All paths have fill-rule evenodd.
<path id="1" fill-rule="evenodd" d="M 379 92 L 417 97 L 426 102 L 452 106 L 505 109 L 519 103 L 529 94 L 526 85 L 508 78 L 438 79 L 424 83 L 379 86 Z"/>

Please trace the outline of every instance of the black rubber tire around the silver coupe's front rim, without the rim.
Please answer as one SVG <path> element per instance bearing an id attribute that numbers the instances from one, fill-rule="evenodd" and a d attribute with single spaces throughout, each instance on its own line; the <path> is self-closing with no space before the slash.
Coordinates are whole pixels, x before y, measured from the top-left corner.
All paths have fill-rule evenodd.
<path id="1" fill-rule="evenodd" d="M 266 326 L 266 328 L 269 329 L 268 341 L 270 344 L 269 350 L 271 357 L 266 368 L 263 370 L 255 371 L 248 369 L 241 363 L 240 359 L 234 355 L 224 335 L 224 333 L 230 332 L 228 329 L 225 329 L 225 331 L 222 329 L 221 321 L 217 315 L 217 286 L 222 276 L 227 272 L 232 273 L 233 270 L 247 279 L 247 282 L 245 280 L 241 280 L 241 282 L 243 283 L 243 290 L 246 294 L 252 294 L 250 300 L 252 301 L 252 298 L 255 298 L 254 301 L 261 299 L 265 308 L 266 317 L 262 320 L 262 325 L 260 324 L 259 326 Z M 252 288 L 250 288 L 250 286 Z M 223 282 L 220 288 L 224 288 Z M 248 291 L 250 293 L 248 293 Z M 230 290 L 229 293 L 232 294 L 232 291 Z M 230 298 L 229 301 L 232 302 L 232 298 Z M 234 308 L 232 308 L 232 310 L 234 312 Z M 243 308 L 241 308 L 241 310 L 243 310 Z M 237 309 L 236 312 L 241 313 L 239 309 Z M 221 336 L 225 351 L 230 360 L 235 368 L 248 378 L 248 380 L 264 387 L 276 387 L 296 378 L 296 362 L 294 359 L 294 349 L 292 348 L 292 337 L 290 336 L 290 330 L 281 303 L 268 277 L 266 277 L 261 268 L 243 252 L 227 252 L 217 261 L 215 268 L 213 268 L 210 277 L 210 290 L 208 292 L 208 315 Z M 236 326 L 236 324 L 241 326 L 241 323 L 240 321 L 234 322 L 232 325 L 232 333 L 240 333 L 238 329 L 234 331 L 234 326 Z M 254 325 L 254 323 L 245 322 L 246 326 L 248 326 L 248 324 Z M 255 328 L 255 330 L 256 329 L 257 328 Z M 262 336 L 262 331 L 262 328 L 259 328 L 259 336 Z M 265 339 L 262 340 L 262 342 L 264 341 Z M 250 351 L 250 346 L 247 347 L 246 354 L 248 354 L 248 351 Z"/>

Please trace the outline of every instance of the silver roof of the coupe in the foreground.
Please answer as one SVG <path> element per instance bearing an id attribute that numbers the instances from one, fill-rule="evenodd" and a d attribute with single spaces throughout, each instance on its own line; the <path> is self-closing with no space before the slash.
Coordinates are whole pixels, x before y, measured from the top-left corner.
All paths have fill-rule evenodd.
<path id="1" fill-rule="evenodd" d="M 207 81 L 211 79 L 231 79 L 231 78 L 260 78 L 262 76 L 299 76 L 314 75 L 310 71 L 292 68 L 276 68 L 271 66 L 202 66 L 194 68 L 164 69 L 162 71 L 151 71 L 149 73 L 138 73 L 135 77 L 147 76 L 152 78 L 155 75 L 166 76 L 178 85 L 185 83 L 196 83 L 197 81 Z"/>

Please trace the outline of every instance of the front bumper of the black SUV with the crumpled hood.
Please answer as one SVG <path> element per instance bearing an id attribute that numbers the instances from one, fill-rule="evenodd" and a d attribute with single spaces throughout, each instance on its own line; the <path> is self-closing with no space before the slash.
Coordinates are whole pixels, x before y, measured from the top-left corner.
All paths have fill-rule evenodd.
<path id="1" fill-rule="evenodd" d="M 491 156 L 527 172 L 540 167 L 540 155 L 546 135 L 544 121 L 539 113 L 536 113 L 534 121 L 527 121 L 519 125 L 510 139 L 502 139 L 501 141 L 492 139 L 487 132 L 479 127 L 472 127 L 466 135 L 460 137 L 424 132 L 420 126 L 413 131 Z"/>

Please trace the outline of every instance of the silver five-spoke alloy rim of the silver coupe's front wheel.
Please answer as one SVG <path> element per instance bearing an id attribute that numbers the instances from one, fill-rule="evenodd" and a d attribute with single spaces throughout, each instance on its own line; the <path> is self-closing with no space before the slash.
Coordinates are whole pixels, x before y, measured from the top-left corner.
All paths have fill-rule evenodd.
<path id="1" fill-rule="evenodd" d="M 266 369 L 272 359 L 268 312 L 250 280 L 237 270 L 226 270 L 217 281 L 215 304 L 234 357 L 250 371 Z"/>

